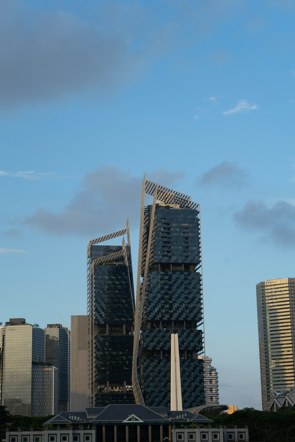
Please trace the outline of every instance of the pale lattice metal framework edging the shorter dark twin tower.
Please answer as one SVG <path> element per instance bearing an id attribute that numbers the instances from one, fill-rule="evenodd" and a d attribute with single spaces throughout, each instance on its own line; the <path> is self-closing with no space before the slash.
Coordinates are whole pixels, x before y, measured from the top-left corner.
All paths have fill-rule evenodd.
<path id="1" fill-rule="evenodd" d="M 126 222 L 126 229 L 118 230 L 117 232 L 109 233 L 104 236 L 100 236 L 99 238 L 95 238 L 89 241 L 87 246 L 87 314 L 88 314 L 88 336 L 89 336 L 89 356 L 88 356 L 88 383 L 91 391 L 91 404 L 90 406 L 94 406 L 94 395 L 95 395 L 95 382 L 94 382 L 94 373 L 95 373 L 95 290 L 94 290 L 94 267 L 96 265 L 103 265 L 105 263 L 110 263 L 111 261 L 115 261 L 118 258 L 124 258 L 125 265 L 128 270 L 128 278 L 129 278 L 129 286 L 130 286 L 130 295 L 132 301 L 132 309 L 134 313 L 134 302 L 132 297 L 132 285 L 130 278 L 130 269 L 128 265 L 127 251 L 124 235 L 127 234 L 127 245 L 130 247 L 130 227 L 129 227 L 129 219 Z M 92 246 L 96 244 L 100 244 L 103 241 L 107 241 L 117 236 L 122 236 L 122 250 L 115 251 L 114 253 L 110 253 L 109 255 L 103 256 L 102 258 L 93 259 L 92 260 Z M 130 247 L 130 259 L 131 259 L 131 247 Z"/>

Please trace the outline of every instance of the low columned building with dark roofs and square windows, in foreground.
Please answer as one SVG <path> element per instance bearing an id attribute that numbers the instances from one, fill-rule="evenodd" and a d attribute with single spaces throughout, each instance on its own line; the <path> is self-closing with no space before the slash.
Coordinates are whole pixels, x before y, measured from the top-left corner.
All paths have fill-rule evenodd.
<path id="1" fill-rule="evenodd" d="M 240 442 L 248 428 L 212 427 L 211 419 L 188 410 L 139 404 L 110 404 L 85 412 L 61 412 L 43 431 L 6 431 L 5 442 Z"/>

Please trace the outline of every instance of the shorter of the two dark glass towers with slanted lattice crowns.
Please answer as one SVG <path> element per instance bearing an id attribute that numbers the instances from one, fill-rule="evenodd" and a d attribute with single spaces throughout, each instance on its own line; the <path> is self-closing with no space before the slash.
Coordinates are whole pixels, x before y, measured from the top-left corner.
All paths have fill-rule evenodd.
<path id="1" fill-rule="evenodd" d="M 100 243 L 127 234 L 122 246 Z M 90 406 L 134 403 L 134 288 L 129 223 L 88 244 Z"/>

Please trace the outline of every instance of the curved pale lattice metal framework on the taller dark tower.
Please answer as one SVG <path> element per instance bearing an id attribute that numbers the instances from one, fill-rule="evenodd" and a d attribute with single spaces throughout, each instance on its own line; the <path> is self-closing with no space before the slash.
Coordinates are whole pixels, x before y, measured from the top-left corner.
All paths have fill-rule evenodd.
<path id="1" fill-rule="evenodd" d="M 151 216 L 148 220 L 148 213 L 145 210 L 145 194 L 153 196 L 153 206 Z M 200 206 L 192 202 L 190 196 L 182 194 L 178 191 L 153 183 L 144 176 L 142 183 L 142 201 L 140 211 L 140 232 L 139 232 L 139 249 L 138 249 L 138 274 L 136 286 L 136 305 L 135 305 L 135 323 L 134 323 L 134 346 L 133 346 L 133 365 L 132 365 L 132 387 L 135 402 L 145 405 L 142 390 L 138 380 L 138 348 L 141 333 L 143 305 L 146 297 L 146 280 L 149 273 L 149 267 L 152 260 L 152 250 L 154 244 L 154 235 L 156 230 L 155 207 L 157 201 L 165 204 L 177 205 L 180 209 L 192 209 L 197 211 L 199 217 Z M 146 245 L 147 226 L 149 224 L 148 243 Z M 200 264 L 197 268 L 202 267 L 202 247 L 200 238 Z M 201 271 L 202 273 L 202 271 Z M 204 345 L 205 348 L 205 345 Z"/>

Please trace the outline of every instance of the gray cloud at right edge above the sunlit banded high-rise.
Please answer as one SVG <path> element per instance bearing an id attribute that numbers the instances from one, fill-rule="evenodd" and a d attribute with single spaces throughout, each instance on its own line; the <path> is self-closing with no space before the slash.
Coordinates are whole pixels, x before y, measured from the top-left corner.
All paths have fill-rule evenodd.
<path id="1" fill-rule="evenodd" d="M 267 206 L 264 201 L 247 202 L 233 215 L 236 225 L 262 234 L 264 240 L 276 245 L 295 245 L 295 206 L 287 201 L 277 201 Z"/>

